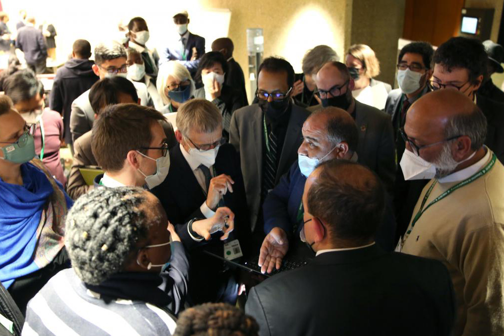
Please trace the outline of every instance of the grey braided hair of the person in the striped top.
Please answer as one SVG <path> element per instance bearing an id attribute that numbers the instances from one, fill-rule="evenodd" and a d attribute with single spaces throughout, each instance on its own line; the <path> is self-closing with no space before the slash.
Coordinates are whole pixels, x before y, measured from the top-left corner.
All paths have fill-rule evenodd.
<path id="1" fill-rule="evenodd" d="M 154 224 L 146 199 L 138 187 L 96 188 L 77 199 L 67 215 L 65 246 L 83 282 L 98 285 L 123 270 Z"/>

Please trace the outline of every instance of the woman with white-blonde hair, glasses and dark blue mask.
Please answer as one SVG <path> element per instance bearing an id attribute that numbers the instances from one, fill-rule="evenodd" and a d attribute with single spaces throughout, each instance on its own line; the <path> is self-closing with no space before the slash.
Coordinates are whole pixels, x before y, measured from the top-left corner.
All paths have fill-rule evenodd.
<path id="1" fill-rule="evenodd" d="M 193 98 L 196 89 L 189 71 L 175 60 L 170 60 L 159 68 L 156 87 L 164 107 L 161 113 L 176 112 L 180 104 Z"/>

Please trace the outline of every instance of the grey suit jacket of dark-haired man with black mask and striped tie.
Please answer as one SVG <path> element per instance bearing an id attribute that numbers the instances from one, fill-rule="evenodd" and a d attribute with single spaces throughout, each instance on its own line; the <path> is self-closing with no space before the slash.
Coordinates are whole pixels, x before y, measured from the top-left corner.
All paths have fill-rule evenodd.
<path id="1" fill-rule="evenodd" d="M 240 155 L 241 172 L 250 211 L 250 225 L 253 230 L 261 207 L 263 184 L 263 115 L 258 104 L 242 107 L 233 113 L 229 132 L 229 143 Z M 308 115 L 307 110 L 292 104 L 275 184 L 278 184 L 282 175 L 297 160 L 297 149 L 302 143 L 301 128 Z"/>

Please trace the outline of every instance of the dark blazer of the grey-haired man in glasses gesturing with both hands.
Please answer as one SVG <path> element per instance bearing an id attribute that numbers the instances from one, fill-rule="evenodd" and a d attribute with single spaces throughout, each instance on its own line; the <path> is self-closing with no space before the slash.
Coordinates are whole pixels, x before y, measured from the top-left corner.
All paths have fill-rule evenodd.
<path id="1" fill-rule="evenodd" d="M 246 209 L 245 187 L 241 177 L 240 161 L 233 146 L 224 144 L 219 148 L 215 159 L 215 176 L 226 174 L 234 181 L 233 192 L 224 195 L 224 204 L 235 215 L 235 230 L 249 227 Z M 165 180 L 152 189 L 171 223 L 182 223 L 193 218 L 205 218 L 200 206 L 207 199 L 193 170 L 185 160 L 180 146 L 170 150 L 170 170 Z"/>

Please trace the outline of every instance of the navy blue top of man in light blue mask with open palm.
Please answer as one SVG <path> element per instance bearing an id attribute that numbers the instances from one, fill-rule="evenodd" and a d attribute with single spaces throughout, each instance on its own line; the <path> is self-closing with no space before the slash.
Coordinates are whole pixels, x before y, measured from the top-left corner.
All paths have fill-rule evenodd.
<path id="1" fill-rule="evenodd" d="M 306 177 L 301 174 L 296 160 L 285 173 L 276 187 L 266 196 L 263 204 L 264 233 L 268 234 L 274 227 L 280 227 L 287 233 L 289 239 L 298 239 L 302 223 L 297 223 L 296 232 L 293 232 L 297 222 L 297 214 L 303 198 Z M 386 251 L 393 251 L 396 247 L 396 220 L 392 207 L 392 197 L 386 195 L 386 208 L 384 218 L 376 230 L 376 243 Z"/>

